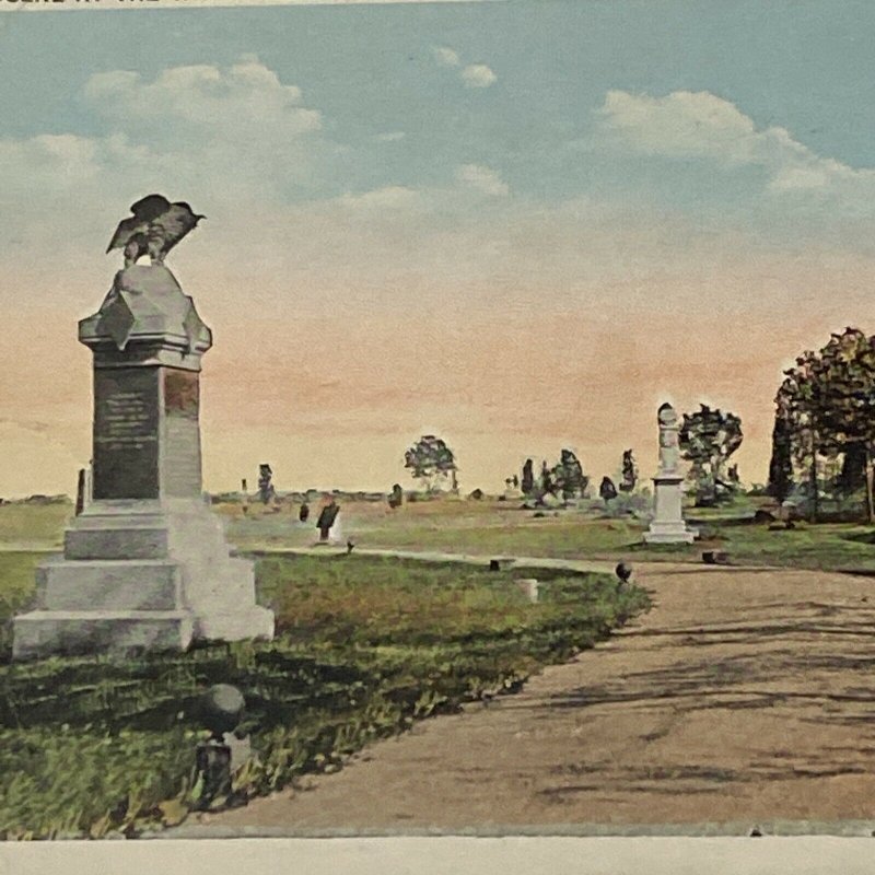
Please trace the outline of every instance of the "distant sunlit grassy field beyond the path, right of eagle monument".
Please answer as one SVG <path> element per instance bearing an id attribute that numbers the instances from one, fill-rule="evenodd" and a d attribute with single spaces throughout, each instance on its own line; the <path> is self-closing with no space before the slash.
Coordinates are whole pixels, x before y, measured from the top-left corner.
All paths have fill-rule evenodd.
<path id="1" fill-rule="evenodd" d="M 825 570 L 875 571 L 875 530 L 842 524 L 769 530 L 750 521 L 752 504 L 728 510 L 693 511 L 702 537 L 695 544 L 649 547 L 646 524 L 606 518 L 598 511 L 527 511 L 497 501 L 430 501 L 393 511 L 384 504 L 341 505 L 343 537 L 361 547 L 439 550 L 474 556 L 530 556 L 570 559 L 701 561 L 704 550 L 724 550 L 738 564 Z M 296 508 L 277 513 L 238 505 L 220 509 L 229 517 L 229 536 L 243 549 L 312 545 L 316 530 L 298 522 Z"/>

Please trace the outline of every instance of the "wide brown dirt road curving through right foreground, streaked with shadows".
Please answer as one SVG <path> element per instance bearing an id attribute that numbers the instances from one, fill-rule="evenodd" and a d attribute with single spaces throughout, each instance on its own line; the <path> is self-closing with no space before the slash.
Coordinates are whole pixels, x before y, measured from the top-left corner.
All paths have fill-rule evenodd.
<path id="1" fill-rule="evenodd" d="M 657 563 L 637 567 L 637 580 L 653 595 L 650 614 L 522 692 L 425 721 L 306 790 L 201 822 L 875 817 L 875 582 Z"/>

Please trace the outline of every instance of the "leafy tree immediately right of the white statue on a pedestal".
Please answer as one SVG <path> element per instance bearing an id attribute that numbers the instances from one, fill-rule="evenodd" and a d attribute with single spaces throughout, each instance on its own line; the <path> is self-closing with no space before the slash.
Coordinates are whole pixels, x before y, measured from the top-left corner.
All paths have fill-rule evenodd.
<path id="1" fill-rule="evenodd" d="M 690 477 L 696 482 L 697 503 L 711 504 L 720 490 L 733 490 L 725 466 L 742 445 L 742 420 L 719 408 L 699 405 L 695 413 L 685 413 L 680 427 L 680 452 L 690 463 Z"/>

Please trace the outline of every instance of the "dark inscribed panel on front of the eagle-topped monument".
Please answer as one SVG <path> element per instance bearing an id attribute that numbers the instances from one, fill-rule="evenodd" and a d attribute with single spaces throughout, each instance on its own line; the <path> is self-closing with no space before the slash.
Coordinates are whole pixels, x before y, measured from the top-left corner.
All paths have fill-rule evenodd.
<path id="1" fill-rule="evenodd" d="M 158 373 L 94 373 L 94 498 L 158 498 Z"/>

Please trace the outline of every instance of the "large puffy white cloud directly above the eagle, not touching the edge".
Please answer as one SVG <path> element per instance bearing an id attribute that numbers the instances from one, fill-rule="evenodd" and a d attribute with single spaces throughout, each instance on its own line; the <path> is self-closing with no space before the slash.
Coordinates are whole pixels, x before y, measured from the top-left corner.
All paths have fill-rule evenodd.
<path id="1" fill-rule="evenodd" d="M 304 104 L 301 90 L 253 55 L 225 68 L 172 67 L 151 79 L 97 73 L 84 96 L 114 128 L 90 141 L 107 188 L 281 200 L 290 189 L 312 189 L 318 168 L 339 151 L 322 136 L 322 114 Z"/>

